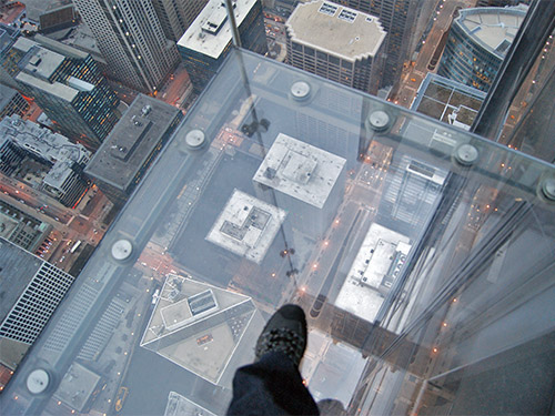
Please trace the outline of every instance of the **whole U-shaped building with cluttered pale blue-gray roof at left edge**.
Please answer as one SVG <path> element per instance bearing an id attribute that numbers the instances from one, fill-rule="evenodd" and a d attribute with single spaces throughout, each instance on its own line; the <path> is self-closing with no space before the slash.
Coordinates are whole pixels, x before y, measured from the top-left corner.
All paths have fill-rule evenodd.
<path id="1" fill-rule="evenodd" d="M 81 201 L 91 153 L 61 134 L 12 115 L 0 121 L 0 171 L 30 183 L 65 206 Z"/>

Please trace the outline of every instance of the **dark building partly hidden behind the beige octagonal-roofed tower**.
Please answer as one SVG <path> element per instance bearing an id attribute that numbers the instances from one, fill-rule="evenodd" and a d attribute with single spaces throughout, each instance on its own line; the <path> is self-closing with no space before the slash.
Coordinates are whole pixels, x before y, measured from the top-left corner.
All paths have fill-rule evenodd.
<path id="1" fill-rule="evenodd" d="M 422 7 L 414 0 L 332 0 L 362 12 L 375 16 L 387 32 L 384 41 L 385 62 L 380 77 L 380 88 L 395 84 L 408 59 L 410 39 L 414 37 L 417 9 Z"/>

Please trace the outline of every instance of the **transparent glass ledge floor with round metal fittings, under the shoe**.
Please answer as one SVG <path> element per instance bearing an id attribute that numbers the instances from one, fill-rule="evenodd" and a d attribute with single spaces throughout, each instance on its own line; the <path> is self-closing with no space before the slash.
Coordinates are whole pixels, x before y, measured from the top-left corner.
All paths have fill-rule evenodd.
<path id="1" fill-rule="evenodd" d="M 265 319 L 294 302 L 317 399 L 350 414 L 541 413 L 554 181 L 553 165 L 235 50 L 2 407 L 223 414 Z"/>

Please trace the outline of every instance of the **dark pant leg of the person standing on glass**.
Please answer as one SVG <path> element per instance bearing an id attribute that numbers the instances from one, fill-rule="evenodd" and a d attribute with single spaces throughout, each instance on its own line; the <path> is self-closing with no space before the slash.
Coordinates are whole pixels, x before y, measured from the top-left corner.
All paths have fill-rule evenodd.
<path id="1" fill-rule="evenodd" d="M 282 353 L 236 371 L 228 415 L 317 415 L 294 364 Z"/>

